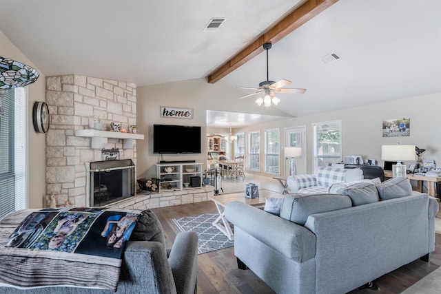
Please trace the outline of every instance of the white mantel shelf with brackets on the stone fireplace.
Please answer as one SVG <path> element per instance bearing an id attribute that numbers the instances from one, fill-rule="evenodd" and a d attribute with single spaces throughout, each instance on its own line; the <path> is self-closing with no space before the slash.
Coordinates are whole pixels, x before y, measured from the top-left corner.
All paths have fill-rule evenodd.
<path id="1" fill-rule="evenodd" d="M 132 140 L 144 140 L 142 134 L 121 133 L 97 131 L 96 129 L 76 129 L 75 136 L 92 138 L 92 148 L 102 149 L 107 144 L 107 138 L 116 138 L 123 140 L 123 149 L 130 149 L 133 147 Z"/>

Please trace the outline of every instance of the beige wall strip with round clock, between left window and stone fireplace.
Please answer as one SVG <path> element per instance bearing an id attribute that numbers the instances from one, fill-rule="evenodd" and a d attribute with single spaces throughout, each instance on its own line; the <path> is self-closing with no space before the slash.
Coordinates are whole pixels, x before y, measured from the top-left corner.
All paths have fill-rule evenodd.
<path id="1" fill-rule="evenodd" d="M 32 107 L 35 101 L 45 101 L 45 76 L 35 65 L 17 48 L 8 37 L 0 31 L 0 56 L 14 59 L 36 68 L 39 73 L 37 82 L 28 86 L 28 207 L 43 207 L 45 196 L 45 135 L 34 131 L 32 125 Z"/>

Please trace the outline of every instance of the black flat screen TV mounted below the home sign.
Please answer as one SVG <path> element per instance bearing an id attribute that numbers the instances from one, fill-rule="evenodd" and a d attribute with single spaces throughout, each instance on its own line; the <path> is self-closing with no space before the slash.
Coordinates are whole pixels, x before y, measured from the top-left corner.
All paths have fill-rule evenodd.
<path id="1" fill-rule="evenodd" d="M 201 127 L 153 125 L 154 154 L 201 153 Z"/>

